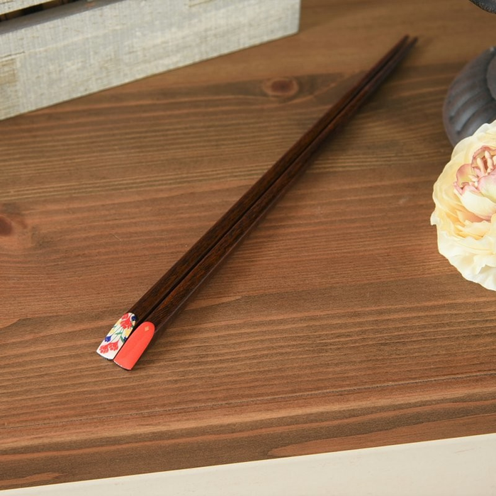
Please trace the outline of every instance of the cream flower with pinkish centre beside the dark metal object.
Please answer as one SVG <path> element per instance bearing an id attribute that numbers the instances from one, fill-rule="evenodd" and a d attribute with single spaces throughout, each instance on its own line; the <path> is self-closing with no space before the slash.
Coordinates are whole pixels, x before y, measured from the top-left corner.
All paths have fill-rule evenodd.
<path id="1" fill-rule="evenodd" d="M 433 198 L 439 253 L 463 277 L 496 291 L 496 121 L 454 147 Z"/>

